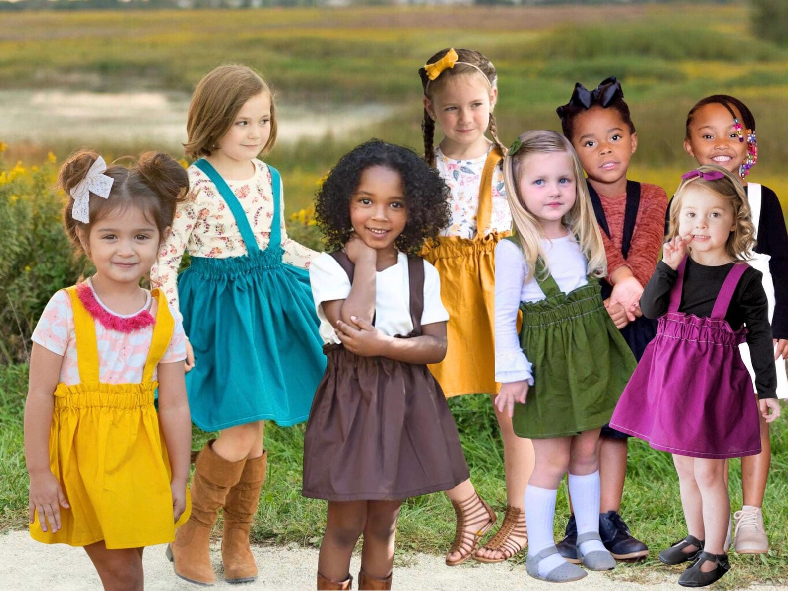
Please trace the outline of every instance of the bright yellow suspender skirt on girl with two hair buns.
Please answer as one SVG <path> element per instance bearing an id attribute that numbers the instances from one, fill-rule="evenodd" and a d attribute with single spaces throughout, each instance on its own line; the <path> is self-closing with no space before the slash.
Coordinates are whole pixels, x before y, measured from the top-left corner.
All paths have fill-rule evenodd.
<path id="1" fill-rule="evenodd" d="M 158 289 L 151 349 L 139 384 L 99 381 L 95 324 L 76 293 L 66 290 L 74 310 L 80 383 L 58 384 L 50 429 L 50 470 L 70 508 L 61 507 L 61 530 L 44 532 L 38 515 L 30 526 L 34 540 L 106 548 L 139 548 L 173 541 L 188 519 L 191 503 L 173 521 L 167 448 L 154 407 L 158 382 L 153 373 L 169 347 L 175 322 Z M 49 529 L 49 528 L 47 528 Z"/>

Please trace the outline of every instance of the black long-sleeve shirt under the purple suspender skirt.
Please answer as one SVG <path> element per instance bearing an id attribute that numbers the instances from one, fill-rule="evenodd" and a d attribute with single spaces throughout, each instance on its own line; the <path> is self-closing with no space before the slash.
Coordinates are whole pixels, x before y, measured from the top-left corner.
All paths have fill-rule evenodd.
<path id="1" fill-rule="evenodd" d="M 687 258 L 684 269 L 684 288 L 678 311 L 695 314 L 700 318 L 712 315 L 714 303 L 722 289 L 728 271 L 734 263 L 721 266 L 705 266 Z M 758 398 L 776 398 L 777 373 L 774 363 L 774 344 L 771 340 L 768 303 L 761 283 L 763 275 L 750 267 L 739 280 L 730 300 L 725 319 L 730 328 L 747 327 L 747 344 L 755 370 L 755 386 Z M 678 272 L 663 261 L 646 284 L 640 304 L 646 318 L 659 318 L 667 314 L 671 303 L 671 289 L 678 280 Z"/>

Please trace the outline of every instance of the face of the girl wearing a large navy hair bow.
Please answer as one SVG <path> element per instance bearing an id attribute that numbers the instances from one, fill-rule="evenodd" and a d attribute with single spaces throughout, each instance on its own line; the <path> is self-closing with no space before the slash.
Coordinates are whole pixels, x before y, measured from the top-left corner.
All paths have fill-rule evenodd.
<path id="1" fill-rule="evenodd" d="M 626 179 L 637 134 L 630 132 L 619 111 L 593 106 L 578 113 L 572 127 L 572 146 L 589 179 L 603 184 Z"/>

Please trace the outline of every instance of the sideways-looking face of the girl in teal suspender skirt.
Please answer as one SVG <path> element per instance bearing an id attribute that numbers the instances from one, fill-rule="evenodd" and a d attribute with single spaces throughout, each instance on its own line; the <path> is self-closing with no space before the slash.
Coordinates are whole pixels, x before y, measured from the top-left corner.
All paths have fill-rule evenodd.
<path id="1" fill-rule="evenodd" d="M 217 158 L 249 162 L 262 151 L 271 136 L 271 97 L 267 92 L 253 96 L 238 111 L 229 131 L 217 142 Z"/>

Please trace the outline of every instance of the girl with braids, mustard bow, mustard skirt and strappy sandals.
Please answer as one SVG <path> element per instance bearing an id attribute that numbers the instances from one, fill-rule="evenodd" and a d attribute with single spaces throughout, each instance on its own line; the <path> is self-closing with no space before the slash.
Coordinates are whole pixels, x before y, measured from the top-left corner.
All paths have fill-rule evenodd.
<path id="1" fill-rule="evenodd" d="M 424 157 L 451 189 L 452 217 L 437 243 L 423 255 L 440 273 L 441 298 L 449 313 L 448 348 L 443 362 L 430 366 L 446 396 L 498 392 L 493 367 L 493 254 L 511 230 L 511 214 L 500 162 L 492 110 L 498 79 L 489 59 L 478 51 L 444 49 L 418 71 L 424 90 Z M 435 122 L 444 138 L 433 149 Z M 486 138 L 489 129 L 492 141 Z M 446 556 L 450 566 L 471 556 L 501 562 L 528 540 L 522 496 L 533 467 L 530 441 L 515 436 L 511 418 L 496 412 L 504 439 L 507 508 L 500 531 L 476 552 L 496 515 L 470 481 L 448 492 L 457 514 L 455 541 Z"/>

